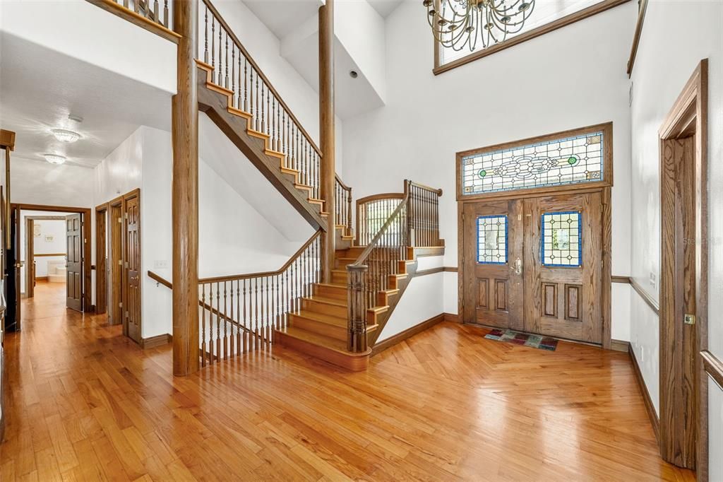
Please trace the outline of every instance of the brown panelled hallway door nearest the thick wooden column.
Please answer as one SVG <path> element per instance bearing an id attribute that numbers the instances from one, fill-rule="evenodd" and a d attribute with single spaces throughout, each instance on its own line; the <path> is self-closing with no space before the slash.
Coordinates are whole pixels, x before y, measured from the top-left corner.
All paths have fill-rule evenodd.
<path id="1" fill-rule="evenodd" d="M 140 330 L 140 200 L 124 200 L 124 331 L 135 342 Z"/>

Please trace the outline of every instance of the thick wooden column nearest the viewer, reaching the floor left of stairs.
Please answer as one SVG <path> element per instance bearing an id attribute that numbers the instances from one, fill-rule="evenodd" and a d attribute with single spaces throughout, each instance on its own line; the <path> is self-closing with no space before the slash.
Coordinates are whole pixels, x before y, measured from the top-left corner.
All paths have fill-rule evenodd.
<path id="1" fill-rule="evenodd" d="M 171 103 L 174 146 L 173 187 L 173 336 L 174 375 L 198 370 L 198 2 L 174 1 L 178 46 L 178 93 Z"/>

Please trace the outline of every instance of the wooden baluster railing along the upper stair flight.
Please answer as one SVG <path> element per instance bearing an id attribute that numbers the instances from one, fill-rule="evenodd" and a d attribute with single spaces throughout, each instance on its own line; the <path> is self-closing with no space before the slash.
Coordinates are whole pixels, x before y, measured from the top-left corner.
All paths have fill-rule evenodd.
<path id="1" fill-rule="evenodd" d="M 322 154 L 312 137 L 209 0 L 202 0 L 199 22 L 199 55 L 213 67 L 213 83 L 233 93 L 231 106 L 251 116 L 252 130 L 268 135 L 270 149 L 286 155 L 284 167 L 320 199 Z"/>

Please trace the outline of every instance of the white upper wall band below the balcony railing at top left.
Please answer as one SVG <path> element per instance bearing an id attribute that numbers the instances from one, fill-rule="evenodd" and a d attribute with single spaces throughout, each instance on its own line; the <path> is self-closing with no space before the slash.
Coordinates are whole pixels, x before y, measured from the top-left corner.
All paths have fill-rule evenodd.
<path id="1" fill-rule="evenodd" d="M 5 0 L 0 30 L 176 93 L 176 44 L 88 1 Z"/>

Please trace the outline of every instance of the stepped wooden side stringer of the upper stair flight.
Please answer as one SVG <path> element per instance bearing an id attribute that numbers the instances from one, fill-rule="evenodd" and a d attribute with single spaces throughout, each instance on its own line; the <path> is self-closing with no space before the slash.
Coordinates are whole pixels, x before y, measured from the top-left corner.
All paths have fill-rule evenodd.
<path id="1" fill-rule="evenodd" d="M 283 167 L 285 155 L 268 148 L 268 135 L 250 129 L 250 114 L 229 106 L 233 92 L 208 82 L 209 71 L 201 63 L 197 68 L 199 110 L 208 115 L 313 228 L 328 230 L 328 213 L 322 210 L 323 201 L 309 198 L 309 190 L 299 182 L 298 172 Z"/>

